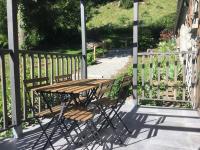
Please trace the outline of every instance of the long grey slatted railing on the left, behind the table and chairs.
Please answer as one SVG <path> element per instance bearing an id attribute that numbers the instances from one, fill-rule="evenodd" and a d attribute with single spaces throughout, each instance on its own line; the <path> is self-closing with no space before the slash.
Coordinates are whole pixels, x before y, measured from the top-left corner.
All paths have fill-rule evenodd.
<path id="1" fill-rule="evenodd" d="M 11 50 L 0 49 L 0 131 L 7 130 L 12 123 L 11 88 L 10 88 L 10 54 Z M 81 55 L 63 53 L 19 50 L 21 121 L 29 118 L 27 99 L 23 80 L 35 77 L 49 77 L 54 83 L 54 77 L 71 74 L 74 80 L 81 76 Z"/>

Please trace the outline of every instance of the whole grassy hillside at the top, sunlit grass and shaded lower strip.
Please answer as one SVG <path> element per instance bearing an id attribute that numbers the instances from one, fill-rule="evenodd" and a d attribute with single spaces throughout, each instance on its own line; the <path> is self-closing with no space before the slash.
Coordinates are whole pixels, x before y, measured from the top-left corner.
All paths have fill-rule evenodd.
<path id="1" fill-rule="evenodd" d="M 159 33 L 164 29 L 172 29 L 176 14 L 176 0 L 147 0 L 140 3 L 140 43 L 142 48 L 147 43 L 158 42 Z M 109 2 L 92 9 L 92 17 L 88 19 L 89 40 L 104 40 L 112 47 L 121 47 L 127 39 L 130 44 L 132 38 L 133 9 L 118 6 L 118 1 Z M 152 40 L 152 41 L 151 41 Z"/>

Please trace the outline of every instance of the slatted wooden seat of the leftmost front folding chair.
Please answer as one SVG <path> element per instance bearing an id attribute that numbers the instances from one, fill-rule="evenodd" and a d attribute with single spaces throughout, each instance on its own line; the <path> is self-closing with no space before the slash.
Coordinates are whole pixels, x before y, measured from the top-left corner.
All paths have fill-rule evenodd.
<path id="1" fill-rule="evenodd" d="M 52 117 L 55 114 L 58 114 L 61 110 L 61 106 L 57 105 L 51 108 L 53 113 L 51 113 L 51 111 L 49 109 L 45 109 L 39 113 L 36 114 L 37 117 Z"/>

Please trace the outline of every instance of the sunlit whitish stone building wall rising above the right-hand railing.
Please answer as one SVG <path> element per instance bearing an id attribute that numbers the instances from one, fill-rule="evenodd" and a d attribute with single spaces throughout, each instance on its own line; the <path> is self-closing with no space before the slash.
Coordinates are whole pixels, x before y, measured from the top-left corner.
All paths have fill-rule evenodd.
<path id="1" fill-rule="evenodd" d="M 177 48 L 180 51 L 197 51 L 197 30 L 199 27 L 199 0 L 188 0 L 189 6 L 183 7 L 179 18 Z M 186 4 L 185 4 L 186 5 Z"/>

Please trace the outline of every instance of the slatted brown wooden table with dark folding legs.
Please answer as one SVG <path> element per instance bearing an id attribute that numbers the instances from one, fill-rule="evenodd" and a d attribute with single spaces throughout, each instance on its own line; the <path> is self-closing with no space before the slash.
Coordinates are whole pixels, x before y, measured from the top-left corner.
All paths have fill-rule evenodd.
<path id="1" fill-rule="evenodd" d="M 71 97 L 71 99 L 75 100 L 75 98 L 77 98 L 81 93 L 86 92 L 87 95 L 90 96 L 90 100 L 91 100 L 92 95 L 95 94 L 96 90 L 98 89 L 98 87 L 100 87 L 101 84 L 106 84 L 111 81 L 113 80 L 112 79 L 84 79 L 84 80 L 74 80 L 74 81 L 62 81 L 59 83 L 54 83 L 52 85 L 46 85 L 46 86 L 34 88 L 33 91 L 36 93 L 40 93 L 45 103 L 47 104 L 48 108 L 51 109 L 50 104 L 48 104 L 48 100 L 45 99 L 45 96 L 44 96 L 45 93 L 60 94 L 60 95 L 64 95 L 65 97 L 69 96 Z M 60 101 L 61 102 L 64 101 L 64 98 L 60 99 Z"/>

